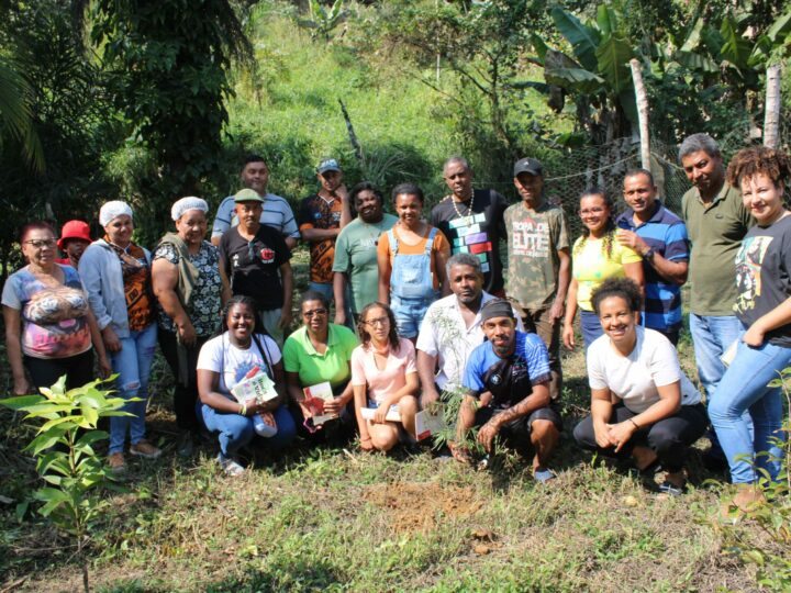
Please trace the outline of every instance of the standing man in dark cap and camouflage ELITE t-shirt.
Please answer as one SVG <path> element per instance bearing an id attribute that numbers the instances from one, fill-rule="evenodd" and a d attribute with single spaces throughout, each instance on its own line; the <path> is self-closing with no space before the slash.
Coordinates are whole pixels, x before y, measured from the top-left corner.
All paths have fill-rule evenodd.
<path id="1" fill-rule="evenodd" d="M 505 293 L 521 310 L 525 329 L 535 327 L 549 351 L 549 394 L 562 387 L 560 322 L 571 280 L 566 216 L 544 195 L 544 167 L 534 158 L 514 165 L 514 186 L 522 201 L 505 210 L 509 272 Z"/>

